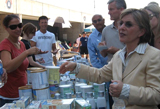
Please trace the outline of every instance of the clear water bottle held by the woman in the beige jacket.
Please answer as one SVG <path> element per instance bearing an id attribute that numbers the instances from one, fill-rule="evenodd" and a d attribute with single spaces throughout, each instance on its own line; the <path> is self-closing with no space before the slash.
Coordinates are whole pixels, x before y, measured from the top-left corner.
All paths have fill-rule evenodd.
<path id="1" fill-rule="evenodd" d="M 113 84 L 118 84 L 117 82 L 114 82 Z M 125 109 L 125 103 L 122 99 L 119 99 L 117 97 L 112 97 L 114 101 L 114 109 Z"/>

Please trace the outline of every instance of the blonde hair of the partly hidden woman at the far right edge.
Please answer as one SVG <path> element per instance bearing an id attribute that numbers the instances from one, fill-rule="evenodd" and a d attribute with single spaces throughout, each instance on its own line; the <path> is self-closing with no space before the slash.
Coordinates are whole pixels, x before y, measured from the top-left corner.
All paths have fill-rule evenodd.
<path id="1" fill-rule="evenodd" d="M 149 4 L 148 6 L 144 7 L 144 9 L 151 11 L 155 14 L 155 17 L 158 19 L 158 24 L 156 28 L 156 33 L 154 34 L 155 38 L 160 37 L 160 7 L 155 4 Z"/>

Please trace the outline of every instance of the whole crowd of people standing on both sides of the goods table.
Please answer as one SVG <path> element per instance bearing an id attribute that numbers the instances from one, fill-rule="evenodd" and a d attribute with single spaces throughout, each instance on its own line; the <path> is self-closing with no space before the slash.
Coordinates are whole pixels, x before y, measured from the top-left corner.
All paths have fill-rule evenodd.
<path id="1" fill-rule="evenodd" d="M 125 0 L 109 0 L 108 10 L 112 24 L 105 26 L 103 16 L 95 14 L 91 19 L 95 30 L 90 35 L 83 32 L 73 44 L 67 44 L 81 57 L 90 58 L 91 66 L 66 62 L 60 73 L 71 71 L 90 82 L 106 82 L 110 109 L 119 106 L 112 97 L 123 100 L 126 109 L 160 109 L 159 4 L 127 9 Z M 3 19 L 9 36 L 0 43 L 5 83 L 0 88 L 0 107 L 19 99 L 18 87 L 27 84 L 28 67 L 53 66 L 58 52 L 55 35 L 47 31 L 46 16 L 38 22 L 37 31 L 32 23 L 22 25 L 17 15 Z M 98 46 L 107 48 L 99 50 Z"/>

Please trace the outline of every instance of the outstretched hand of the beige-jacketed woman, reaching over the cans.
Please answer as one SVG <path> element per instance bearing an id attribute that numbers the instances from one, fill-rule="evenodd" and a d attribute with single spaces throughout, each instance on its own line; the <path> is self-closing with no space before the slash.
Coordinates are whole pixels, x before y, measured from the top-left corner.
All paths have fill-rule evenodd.
<path id="1" fill-rule="evenodd" d="M 64 74 L 67 71 L 73 71 L 76 68 L 76 63 L 74 62 L 65 62 L 61 65 L 59 72 Z"/>

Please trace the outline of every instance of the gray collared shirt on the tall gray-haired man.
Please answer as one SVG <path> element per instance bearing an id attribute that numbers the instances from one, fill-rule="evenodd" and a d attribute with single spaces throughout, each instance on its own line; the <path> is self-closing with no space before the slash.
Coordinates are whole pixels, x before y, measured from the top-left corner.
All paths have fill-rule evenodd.
<path id="1" fill-rule="evenodd" d="M 114 26 L 114 22 L 103 29 L 102 41 L 106 42 L 108 48 L 115 47 L 122 49 L 125 46 L 125 44 L 119 40 L 118 29 Z M 113 55 L 114 54 L 108 53 L 108 62 L 112 59 Z"/>

